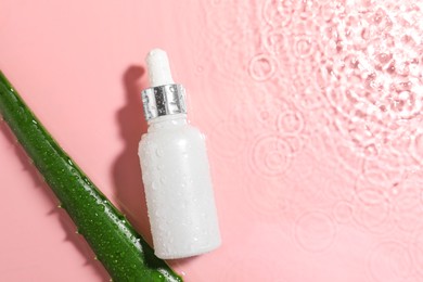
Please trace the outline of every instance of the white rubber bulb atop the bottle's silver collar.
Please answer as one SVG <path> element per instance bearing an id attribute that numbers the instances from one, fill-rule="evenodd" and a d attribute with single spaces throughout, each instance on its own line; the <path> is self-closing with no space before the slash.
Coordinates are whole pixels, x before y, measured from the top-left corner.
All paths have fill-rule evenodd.
<path id="1" fill-rule="evenodd" d="M 153 49 L 145 57 L 150 87 L 172 85 L 169 59 L 162 49 Z"/>

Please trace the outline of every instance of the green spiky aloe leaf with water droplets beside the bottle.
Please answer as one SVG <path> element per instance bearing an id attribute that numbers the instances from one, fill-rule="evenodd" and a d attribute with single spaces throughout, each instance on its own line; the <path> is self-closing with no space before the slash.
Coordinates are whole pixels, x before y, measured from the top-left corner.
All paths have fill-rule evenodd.
<path id="1" fill-rule="evenodd" d="M 54 141 L 1 72 L 0 114 L 114 281 L 182 281 Z"/>

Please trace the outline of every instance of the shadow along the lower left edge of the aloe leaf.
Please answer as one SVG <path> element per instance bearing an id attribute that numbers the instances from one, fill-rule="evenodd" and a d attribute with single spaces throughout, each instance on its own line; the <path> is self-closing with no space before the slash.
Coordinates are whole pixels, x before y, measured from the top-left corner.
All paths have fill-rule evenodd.
<path id="1" fill-rule="evenodd" d="M 42 176 L 38 172 L 37 168 L 31 165 L 30 158 L 25 153 L 24 149 L 17 143 L 12 130 L 10 130 L 10 128 L 7 127 L 4 123 L 1 123 L 0 131 L 4 134 L 4 137 L 10 143 L 15 144 L 15 154 L 16 157 L 20 159 L 24 171 L 30 175 L 34 181 L 34 185 L 36 188 L 39 188 L 39 191 L 41 191 L 40 193 L 42 193 L 43 196 L 49 200 L 52 208 L 49 213 L 46 214 L 46 216 L 57 217 L 59 222 L 61 223 L 63 230 L 65 230 L 66 232 L 64 242 L 72 243 L 72 245 L 86 258 L 86 262 L 82 265 L 82 267 L 92 267 L 98 278 L 100 278 L 102 281 L 110 281 L 110 275 L 107 271 L 101 265 L 100 261 L 94 259 L 95 254 L 91 251 L 87 241 L 85 241 L 82 236 L 76 233 L 77 228 L 75 223 L 72 221 L 72 219 L 64 209 L 57 207 L 59 201 L 56 196 L 46 183 Z"/>

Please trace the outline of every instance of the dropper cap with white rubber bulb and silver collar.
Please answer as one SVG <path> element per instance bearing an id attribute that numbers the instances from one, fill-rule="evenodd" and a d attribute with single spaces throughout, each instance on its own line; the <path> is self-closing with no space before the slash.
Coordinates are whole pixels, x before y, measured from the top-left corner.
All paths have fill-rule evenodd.
<path id="1" fill-rule="evenodd" d="M 165 51 L 153 49 L 145 57 L 150 88 L 141 92 L 146 120 L 175 114 L 187 114 L 185 90 L 171 78 Z"/>

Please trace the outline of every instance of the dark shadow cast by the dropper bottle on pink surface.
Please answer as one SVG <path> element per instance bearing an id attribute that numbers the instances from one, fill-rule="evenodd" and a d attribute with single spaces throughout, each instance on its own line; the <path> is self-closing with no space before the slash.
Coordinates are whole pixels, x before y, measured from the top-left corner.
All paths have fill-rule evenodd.
<path id="1" fill-rule="evenodd" d="M 112 174 L 119 209 L 152 245 L 144 187 L 138 157 L 141 136 L 148 129 L 140 97 L 142 89 L 140 78 L 144 73 L 144 68 L 141 66 L 129 66 L 123 76 L 127 100 L 125 106 L 118 111 L 116 118 L 125 148 L 114 162 Z"/>

